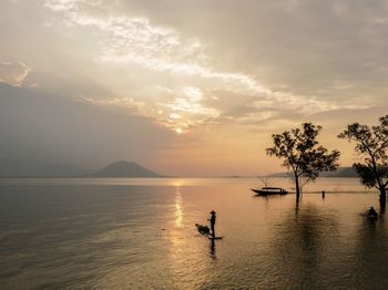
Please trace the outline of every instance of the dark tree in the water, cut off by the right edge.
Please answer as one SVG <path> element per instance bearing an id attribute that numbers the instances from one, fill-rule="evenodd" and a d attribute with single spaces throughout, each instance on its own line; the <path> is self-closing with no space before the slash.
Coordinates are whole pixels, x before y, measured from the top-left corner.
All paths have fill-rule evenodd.
<path id="1" fill-rule="evenodd" d="M 363 163 L 355 163 L 361 183 L 380 191 L 380 204 L 386 205 L 388 186 L 388 115 L 379 118 L 379 125 L 368 126 L 354 123 L 338 135 L 338 138 L 354 141 L 355 151 Z"/>

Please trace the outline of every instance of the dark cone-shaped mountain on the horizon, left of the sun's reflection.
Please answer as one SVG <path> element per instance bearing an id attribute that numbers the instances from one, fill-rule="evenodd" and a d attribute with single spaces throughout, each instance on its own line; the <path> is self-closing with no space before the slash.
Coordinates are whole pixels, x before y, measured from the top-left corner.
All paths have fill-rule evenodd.
<path id="1" fill-rule="evenodd" d="M 90 177 L 162 177 L 134 162 L 115 162 L 89 175 Z"/>

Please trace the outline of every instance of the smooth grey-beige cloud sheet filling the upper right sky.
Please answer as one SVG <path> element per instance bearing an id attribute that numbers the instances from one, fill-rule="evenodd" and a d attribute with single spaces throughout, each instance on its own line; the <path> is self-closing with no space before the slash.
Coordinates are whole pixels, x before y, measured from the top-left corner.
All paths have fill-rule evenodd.
<path id="1" fill-rule="evenodd" d="M 344 94 L 361 97 L 359 87 L 366 84 L 377 92 L 385 86 L 388 6 L 382 0 L 125 3 L 127 12 L 201 35 L 212 43 L 218 65 L 245 71 L 272 91 L 280 83 L 296 95 L 336 102 Z M 354 87 L 339 96 L 331 90 L 317 93 L 337 82 Z M 382 97 L 378 93 L 375 100 Z"/>

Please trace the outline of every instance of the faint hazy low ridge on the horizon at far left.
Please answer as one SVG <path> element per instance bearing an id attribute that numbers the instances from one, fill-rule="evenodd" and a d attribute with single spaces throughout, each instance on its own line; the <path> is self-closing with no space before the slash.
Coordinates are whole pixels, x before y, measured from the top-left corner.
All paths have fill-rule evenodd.
<path id="1" fill-rule="evenodd" d="M 0 158 L 0 177 L 75 177 L 91 172 L 71 164 Z"/>

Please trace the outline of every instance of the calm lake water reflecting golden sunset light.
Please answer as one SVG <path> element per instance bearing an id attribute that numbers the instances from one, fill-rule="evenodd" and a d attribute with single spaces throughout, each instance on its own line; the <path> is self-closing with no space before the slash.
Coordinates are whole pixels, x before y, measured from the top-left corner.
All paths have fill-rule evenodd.
<path id="1" fill-rule="evenodd" d="M 254 186 L 0 179 L 0 288 L 388 289 L 388 221 L 360 215 L 377 193 L 323 178 L 297 208 L 294 195 L 253 197 Z M 212 209 L 224 236 L 214 245 L 194 226 Z"/>

